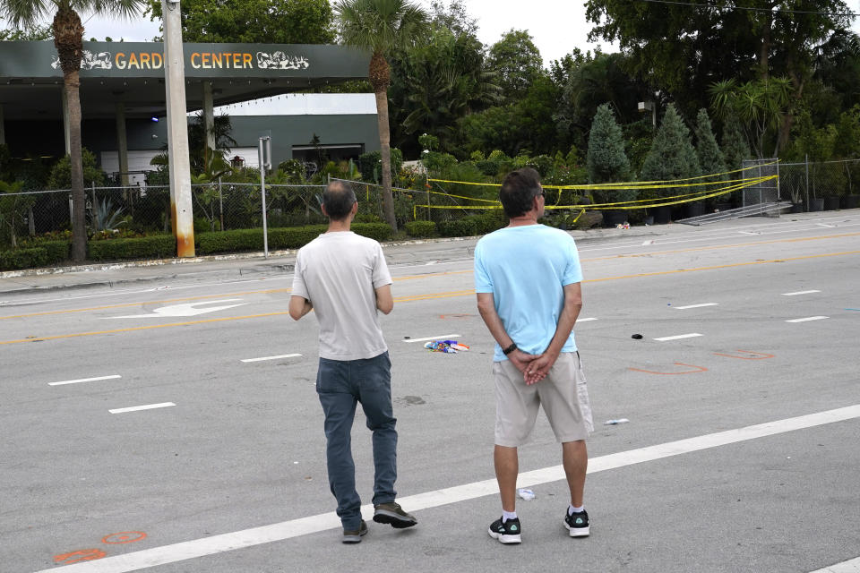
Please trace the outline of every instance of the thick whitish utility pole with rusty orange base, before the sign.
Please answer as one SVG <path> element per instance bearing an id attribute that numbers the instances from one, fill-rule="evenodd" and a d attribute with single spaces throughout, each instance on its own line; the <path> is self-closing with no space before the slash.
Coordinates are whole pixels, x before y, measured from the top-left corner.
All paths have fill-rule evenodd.
<path id="1" fill-rule="evenodd" d="M 178 0 L 161 0 L 161 12 L 164 25 L 164 88 L 168 108 L 170 221 L 176 236 L 176 255 L 193 257 L 194 221 L 185 107 L 185 54 Z"/>

